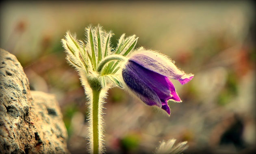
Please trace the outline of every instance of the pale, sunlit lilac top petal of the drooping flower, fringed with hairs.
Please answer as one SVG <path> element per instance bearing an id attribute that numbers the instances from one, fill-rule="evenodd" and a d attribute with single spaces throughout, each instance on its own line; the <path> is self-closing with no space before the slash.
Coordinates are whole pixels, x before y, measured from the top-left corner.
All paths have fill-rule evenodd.
<path id="1" fill-rule="evenodd" d="M 184 80 L 184 76 L 187 76 L 171 60 L 156 52 L 140 51 L 133 54 L 129 61 L 133 61 L 146 69 L 173 79 Z M 192 74 L 190 75 L 192 76 Z M 186 80 L 185 82 L 187 83 L 188 81 Z"/>

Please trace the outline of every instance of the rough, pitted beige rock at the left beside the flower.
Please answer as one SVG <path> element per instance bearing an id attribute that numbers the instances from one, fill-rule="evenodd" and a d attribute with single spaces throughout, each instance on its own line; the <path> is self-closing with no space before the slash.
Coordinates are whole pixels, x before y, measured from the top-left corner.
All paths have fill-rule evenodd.
<path id="1" fill-rule="evenodd" d="M 13 54 L 0 50 L 0 153 L 65 154 L 67 130 L 54 95 L 30 91 Z"/>

